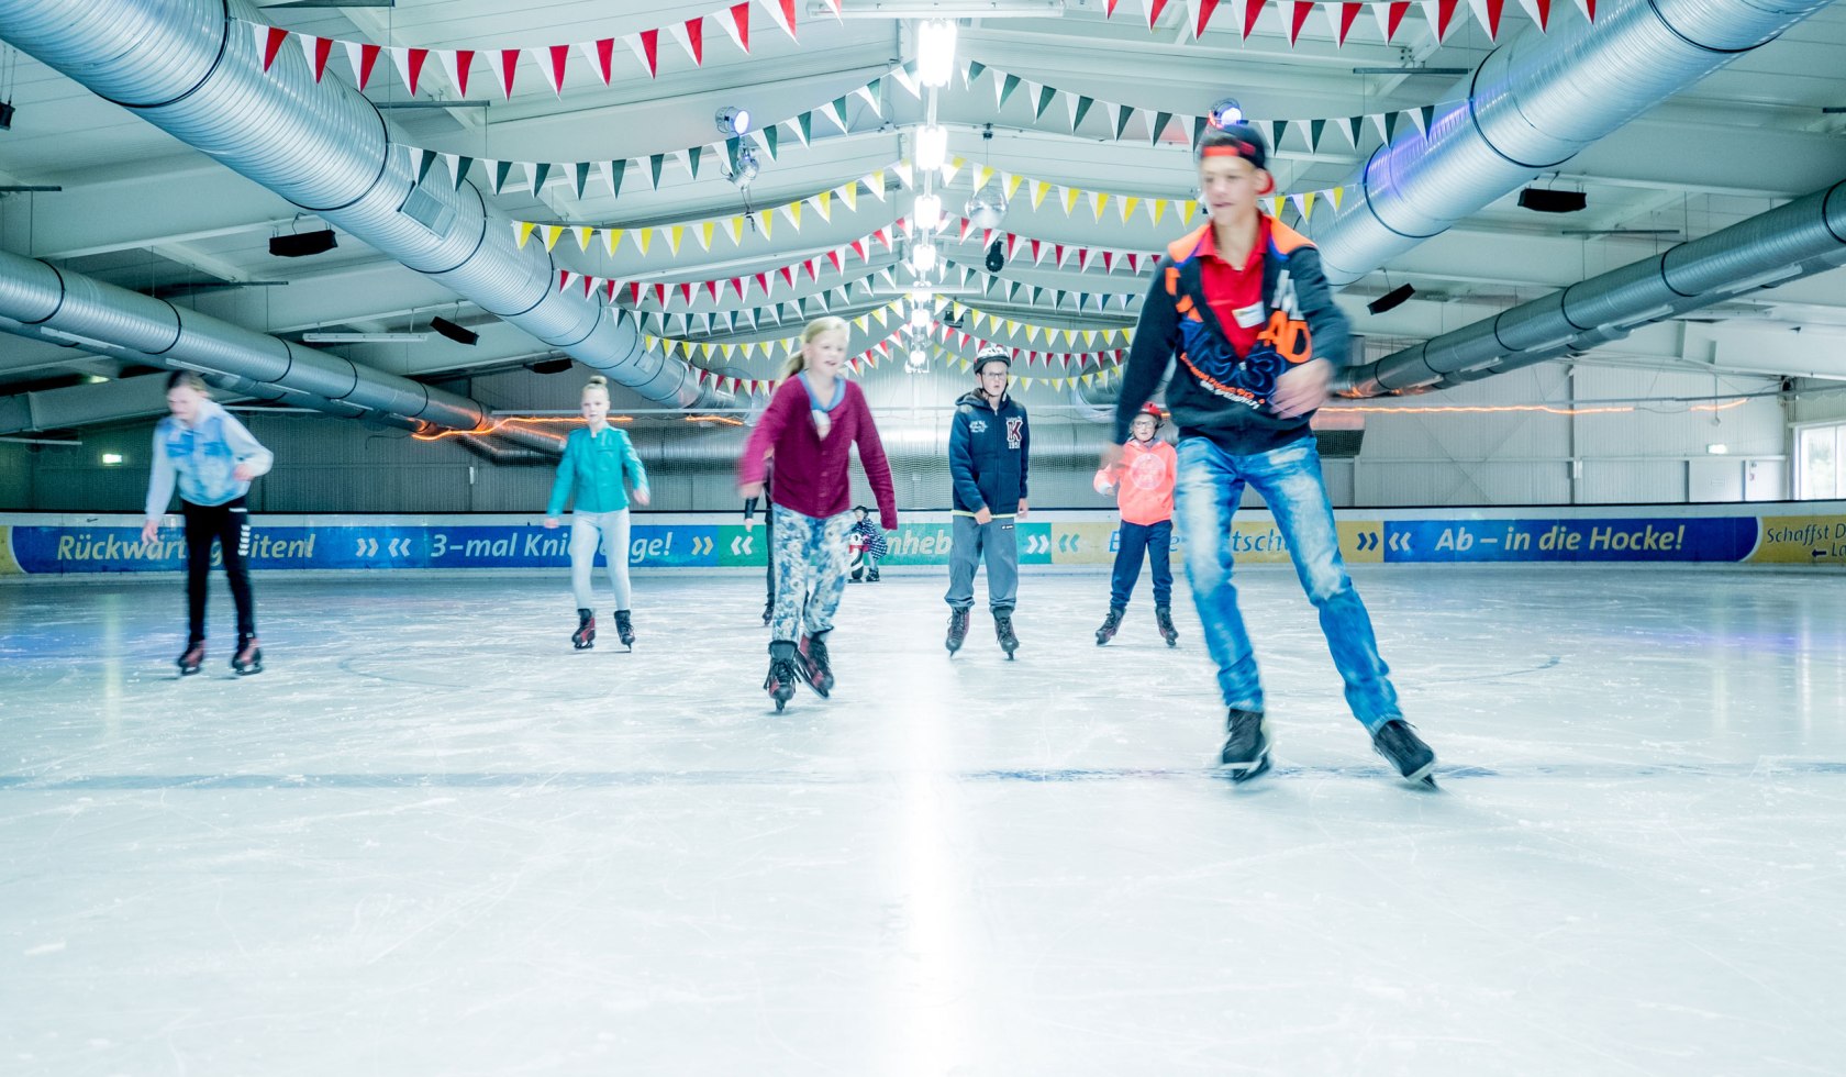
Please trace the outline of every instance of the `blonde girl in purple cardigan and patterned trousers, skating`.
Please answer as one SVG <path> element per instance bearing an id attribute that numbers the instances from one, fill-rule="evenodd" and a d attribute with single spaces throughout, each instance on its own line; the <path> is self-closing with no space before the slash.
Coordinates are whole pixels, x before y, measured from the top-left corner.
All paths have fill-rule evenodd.
<path id="1" fill-rule="evenodd" d="M 866 393 L 845 377 L 847 325 L 816 318 L 801 331 L 801 351 L 788 360 L 783 382 L 744 445 L 738 488 L 762 495 L 766 456 L 775 454 L 770 514 L 775 526 L 775 613 L 770 621 L 770 674 L 762 687 L 775 709 L 805 680 L 816 695 L 833 691 L 827 634 L 845 593 L 845 532 L 853 528 L 847 478 L 851 447 L 879 499 L 879 519 L 897 526 L 897 493 L 884 443 L 866 406 Z"/>

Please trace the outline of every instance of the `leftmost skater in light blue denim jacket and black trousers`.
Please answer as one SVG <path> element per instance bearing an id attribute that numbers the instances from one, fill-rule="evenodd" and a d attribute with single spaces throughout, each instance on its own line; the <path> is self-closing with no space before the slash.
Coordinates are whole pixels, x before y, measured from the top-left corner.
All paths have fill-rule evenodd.
<path id="1" fill-rule="evenodd" d="M 249 480 L 270 471 L 275 456 L 218 406 L 205 390 L 205 379 L 181 369 L 166 379 L 166 408 L 172 412 L 153 429 L 153 473 L 148 477 L 148 517 L 140 541 L 151 543 L 161 517 L 179 488 L 179 512 L 186 521 L 186 650 L 179 656 L 179 676 L 199 672 L 205 663 L 205 591 L 212 571 L 212 541 L 218 541 L 236 602 L 236 652 L 231 669 L 238 676 L 262 672 L 262 645 L 257 641 L 257 599 L 249 589 Z"/>

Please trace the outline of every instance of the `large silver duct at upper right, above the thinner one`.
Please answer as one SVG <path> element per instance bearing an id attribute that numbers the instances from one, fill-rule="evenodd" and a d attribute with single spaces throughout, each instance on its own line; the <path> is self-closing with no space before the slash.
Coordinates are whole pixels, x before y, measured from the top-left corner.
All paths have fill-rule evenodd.
<path id="1" fill-rule="evenodd" d="M 1669 94 L 1767 44 L 1829 0 L 1647 0 L 1560 18 L 1495 48 L 1451 87 L 1429 135 L 1408 127 L 1346 185 L 1361 203 L 1314 242 L 1349 284 L 1621 127 Z"/>

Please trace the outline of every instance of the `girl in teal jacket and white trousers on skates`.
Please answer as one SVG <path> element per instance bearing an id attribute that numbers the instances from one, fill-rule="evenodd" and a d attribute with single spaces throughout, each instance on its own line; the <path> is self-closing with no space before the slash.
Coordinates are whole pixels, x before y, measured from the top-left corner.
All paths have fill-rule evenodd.
<path id="1" fill-rule="evenodd" d="M 641 466 L 628 434 L 609 425 L 609 379 L 596 375 L 583 386 L 583 429 L 570 430 L 565 458 L 557 462 L 557 482 L 545 510 L 545 526 L 556 528 L 565 502 L 576 493 L 570 512 L 570 589 L 578 602 L 578 630 L 570 643 L 578 650 L 596 645 L 596 613 L 591 599 L 591 569 L 602 541 L 609 582 L 615 584 L 615 634 L 622 647 L 635 648 L 635 626 L 628 610 L 628 486 L 635 502 L 648 504 L 648 471 Z M 624 484 L 626 480 L 626 484 Z"/>

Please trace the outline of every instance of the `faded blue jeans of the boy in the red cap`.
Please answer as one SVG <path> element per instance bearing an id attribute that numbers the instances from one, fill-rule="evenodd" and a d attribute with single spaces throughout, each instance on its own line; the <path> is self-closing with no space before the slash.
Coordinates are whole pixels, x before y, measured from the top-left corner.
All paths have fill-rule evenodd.
<path id="1" fill-rule="evenodd" d="M 1333 652 L 1333 665 L 1346 682 L 1346 704 L 1353 717 L 1368 730 L 1403 717 L 1390 669 L 1379 658 L 1372 617 L 1340 560 L 1340 534 L 1333 525 L 1333 504 L 1327 501 L 1320 453 L 1311 436 L 1252 456 L 1233 456 L 1209 438 L 1180 442 L 1174 515 L 1185 538 L 1185 578 L 1205 628 L 1205 647 L 1218 663 L 1224 706 L 1263 709 L 1257 660 L 1231 584 L 1231 515 L 1242 501 L 1244 486 L 1261 493 L 1276 515 L 1276 530 L 1289 545 L 1294 573 L 1309 602 L 1320 610 L 1320 630 Z"/>

